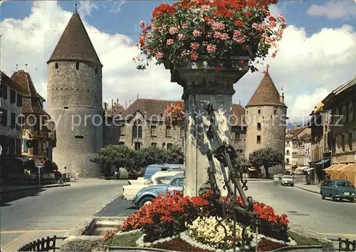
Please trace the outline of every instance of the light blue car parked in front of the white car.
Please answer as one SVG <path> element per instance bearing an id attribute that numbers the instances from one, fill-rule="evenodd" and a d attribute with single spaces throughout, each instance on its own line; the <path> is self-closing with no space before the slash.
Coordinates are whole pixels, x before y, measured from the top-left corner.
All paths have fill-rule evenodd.
<path id="1" fill-rule="evenodd" d="M 183 191 L 184 173 L 177 174 L 169 182 L 169 184 L 155 184 L 149 187 L 140 189 L 136 196 L 131 200 L 133 206 L 143 206 L 148 202 L 153 201 L 159 194 L 167 196 L 167 191 Z"/>

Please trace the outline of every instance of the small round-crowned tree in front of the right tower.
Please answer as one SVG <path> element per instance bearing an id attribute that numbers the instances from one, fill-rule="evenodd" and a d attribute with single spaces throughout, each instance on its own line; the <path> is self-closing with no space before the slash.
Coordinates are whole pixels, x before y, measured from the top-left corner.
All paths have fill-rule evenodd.
<path id="1" fill-rule="evenodd" d="M 249 157 L 250 162 L 257 167 L 263 166 L 266 170 L 266 178 L 269 178 L 270 167 L 282 164 L 284 157 L 282 152 L 278 152 L 270 147 L 257 149 Z"/>

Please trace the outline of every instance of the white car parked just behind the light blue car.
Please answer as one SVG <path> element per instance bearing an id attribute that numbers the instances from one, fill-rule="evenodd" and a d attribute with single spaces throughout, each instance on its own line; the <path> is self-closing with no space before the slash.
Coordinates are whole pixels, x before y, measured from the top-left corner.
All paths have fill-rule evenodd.
<path id="1" fill-rule="evenodd" d="M 122 187 L 122 198 L 131 200 L 133 199 L 137 192 L 144 187 L 148 187 L 152 184 L 169 184 L 172 177 L 175 175 L 182 173 L 182 171 L 164 171 L 164 172 L 156 172 L 152 175 L 151 179 L 140 179 L 140 182 L 144 180 L 142 184 L 129 184 L 127 186 Z"/>

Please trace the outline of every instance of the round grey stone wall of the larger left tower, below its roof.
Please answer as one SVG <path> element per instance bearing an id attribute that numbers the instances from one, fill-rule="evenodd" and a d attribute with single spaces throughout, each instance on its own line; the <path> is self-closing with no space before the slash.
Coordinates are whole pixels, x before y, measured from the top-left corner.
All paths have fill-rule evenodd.
<path id="1" fill-rule="evenodd" d="M 57 136 L 53 162 L 62 172 L 67 167 L 66 172 L 78 172 L 80 177 L 100 176 L 100 164 L 90 158 L 103 147 L 102 93 L 100 65 L 75 61 L 48 64 L 48 113 L 56 123 Z"/>

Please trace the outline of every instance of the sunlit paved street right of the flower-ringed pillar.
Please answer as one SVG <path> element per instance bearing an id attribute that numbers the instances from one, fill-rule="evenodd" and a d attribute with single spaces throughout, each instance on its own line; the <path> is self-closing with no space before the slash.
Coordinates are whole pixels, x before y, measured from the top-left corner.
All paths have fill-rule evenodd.
<path id="1" fill-rule="evenodd" d="M 328 238 L 356 239 L 356 203 L 322 200 L 318 194 L 295 187 L 274 187 L 272 181 L 248 182 L 246 195 Z"/>

